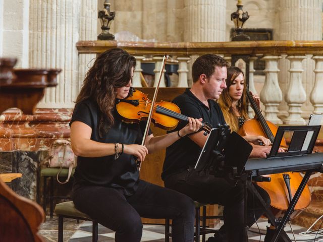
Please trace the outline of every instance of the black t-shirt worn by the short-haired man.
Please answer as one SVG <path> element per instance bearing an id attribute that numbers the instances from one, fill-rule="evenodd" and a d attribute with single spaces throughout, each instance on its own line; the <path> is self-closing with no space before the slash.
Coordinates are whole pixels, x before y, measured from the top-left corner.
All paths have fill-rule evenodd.
<path id="1" fill-rule="evenodd" d="M 176 97 L 173 102 L 179 106 L 182 114 L 194 118 L 202 117 L 203 122 L 211 124 L 213 128 L 216 128 L 219 124 L 224 125 L 226 123 L 217 102 L 209 99 L 208 108 L 188 88 L 182 95 Z M 182 129 L 185 125 L 185 122 L 180 123 L 176 130 Z M 176 141 L 166 149 L 161 178 L 165 180 L 168 175 L 179 173 L 189 166 L 194 166 L 201 150 L 202 148 L 187 136 Z"/>

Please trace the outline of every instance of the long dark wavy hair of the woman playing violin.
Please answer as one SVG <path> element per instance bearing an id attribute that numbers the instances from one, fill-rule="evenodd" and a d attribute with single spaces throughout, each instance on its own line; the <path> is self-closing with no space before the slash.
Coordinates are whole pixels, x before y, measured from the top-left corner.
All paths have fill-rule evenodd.
<path id="1" fill-rule="evenodd" d="M 129 83 L 132 68 L 136 68 L 135 57 L 123 49 L 115 48 L 101 53 L 86 74 L 76 103 L 87 98 L 96 101 L 101 112 L 98 126 L 100 136 L 114 124 L 112 110 L 117 97 L 116 88 Z"/>

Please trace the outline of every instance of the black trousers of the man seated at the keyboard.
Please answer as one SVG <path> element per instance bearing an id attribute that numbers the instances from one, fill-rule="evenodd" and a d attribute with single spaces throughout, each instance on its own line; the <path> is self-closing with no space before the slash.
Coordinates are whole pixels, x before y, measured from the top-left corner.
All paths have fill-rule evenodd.
<path id="1" fill-rule="evenodd" d="M 224 206 L 224 225 L 216 236 L 219 241 L 240 242 L 244 232 L 244 188 L 241 183 L 232 183 L 223 177 L 187 169 L 165 179 L 165 187 L 181 192 L 195 201 Z M 270 197 L 260 187 L 255 189 L 267 204 Z M 250 227 L 263 213 L 260 202 L 248 194 L 247 225 Z"/>

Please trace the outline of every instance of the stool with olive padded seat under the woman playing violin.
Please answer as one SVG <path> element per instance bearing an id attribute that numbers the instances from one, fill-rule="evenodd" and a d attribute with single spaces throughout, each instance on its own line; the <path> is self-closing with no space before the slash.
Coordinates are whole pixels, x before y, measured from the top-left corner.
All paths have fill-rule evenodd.
<path id="1" fill-rule="evenodd" d="M 88 220 L 92 221 L 92 242 L 97 242 L 98 239 L 98 224 L 96 221 L 91 219 L 88 215 L 85 213 L 80 212 L 74 207 L 74 203 L 72 201 L 70 202 L 64 202 L 59 203 L 55 206 L 54 211 L 59 216 L 59 242 L 63 242 L 63 230 L 64 230 L 64 218 L 74 218 L 74 219 L 80 219 L 80 220 Z"/>

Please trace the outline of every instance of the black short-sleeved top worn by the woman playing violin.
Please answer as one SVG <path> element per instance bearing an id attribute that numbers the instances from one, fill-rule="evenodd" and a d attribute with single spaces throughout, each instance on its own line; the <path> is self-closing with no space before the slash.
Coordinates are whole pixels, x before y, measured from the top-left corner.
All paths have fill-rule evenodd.
<path id="1" fill-rule="evenodd" d="M 97 103 L 86 99 L 75 105 L 70 125 L 78 120 L 92 129 L 91 140 L 102 143 L 141 144 L 146 122 L 126 124 L 121 121 L 116 110 L 113 127 L 98 135 L 98 121 L 101 112 Z M 149 132 L 151 134 L 151 132 Z M 136 168 L 135 157 L 121 154 L 115 160 L 115 155 L 102 157 L 77 157 L 77 167 L 74 173 L 77 185 L 95 185 L 121 190 L 125 195 L 132 195 L 137 189 L 139 172 Z"/>

